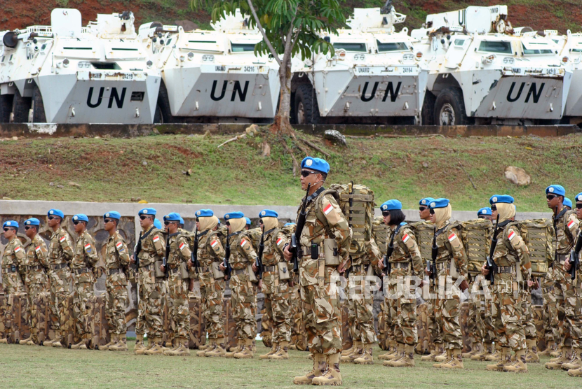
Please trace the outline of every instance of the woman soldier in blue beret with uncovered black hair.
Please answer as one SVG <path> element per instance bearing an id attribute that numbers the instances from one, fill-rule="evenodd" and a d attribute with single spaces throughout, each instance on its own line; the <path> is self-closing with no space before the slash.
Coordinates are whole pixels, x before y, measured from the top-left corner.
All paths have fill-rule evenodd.
<path id="1" fill-rule="evenodd" d="M 414 367 L 414 348 L 419 337 L 417 332 L 417 297 L 415 290 L 422 285 L 415 285 L 412 279 L 423 275 L 423 262 L 417 239 L 412 229 L 404 222 L 402 203 L 398 200 L 388 200 L 380 206 L 384 223 L 388 230 L 386 241 L 386 257 L 390 267 L 388 287 L 384 293 L 385 299 L 396 300 L 395 339 L 398 358 L 385 360 L 382 365 L 390 367 Z M 384 268 L 384 263 L 379 264 Z M 388 269 L 386 269 L 388 272 Z M 389 293 L 392 290 L 395 293 Z"/>

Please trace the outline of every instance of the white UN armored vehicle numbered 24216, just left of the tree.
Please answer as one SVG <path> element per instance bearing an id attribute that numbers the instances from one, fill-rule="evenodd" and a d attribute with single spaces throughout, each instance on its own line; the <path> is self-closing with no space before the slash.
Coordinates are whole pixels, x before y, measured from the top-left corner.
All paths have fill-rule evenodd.
<path id="1" fill-rule="evenodd" d="M 158 104 L 164 122 L 273 119 L 279 65 L 255 56 L 263 37 L 248 26 L 240 10 L 212 24 L 214 31 L 142 24 L 140 36 L 163 78 Z"/>

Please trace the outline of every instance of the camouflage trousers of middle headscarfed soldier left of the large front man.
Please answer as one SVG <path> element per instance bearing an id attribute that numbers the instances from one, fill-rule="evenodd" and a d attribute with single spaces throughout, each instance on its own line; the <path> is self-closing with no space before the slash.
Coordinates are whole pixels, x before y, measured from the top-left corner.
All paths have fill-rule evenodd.
<path id="1" fill-rule="evenodd" d="M 255 339 L 257 336 L 257 295 L 246 274 L 233 275 L 230 280 L 232 290 L 232 318 L 236 324 L 237 339 Z"/>

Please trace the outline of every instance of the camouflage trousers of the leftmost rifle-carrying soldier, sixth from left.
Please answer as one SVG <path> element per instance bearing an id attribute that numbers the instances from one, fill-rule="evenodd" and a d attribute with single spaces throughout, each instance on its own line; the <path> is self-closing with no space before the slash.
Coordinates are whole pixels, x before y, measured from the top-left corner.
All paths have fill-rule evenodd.
<path id="1" fill-rule="evenodd" d="M 137 273 L 138 302 L 135 333 L 149 337 L 163 337 L 163 302 L 165 298 L 165 282 L 156 278 L 154 264 L 140 267 Z"/>

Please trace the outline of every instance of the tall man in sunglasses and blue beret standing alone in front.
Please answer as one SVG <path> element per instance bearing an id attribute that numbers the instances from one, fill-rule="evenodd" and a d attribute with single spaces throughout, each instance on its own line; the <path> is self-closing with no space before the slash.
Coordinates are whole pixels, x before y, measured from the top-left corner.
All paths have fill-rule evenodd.
<path id="1" fill-rule="evenodd" d="M 305 211 L 306 221 L 298 242 L 298 253 L 305 329 L 313 355 L 313 369 L 304 376 L 295 377 L 293 382 L 341 385 L 341 320 L 336 280 L 349 264 L 351 229 L 334 198 L 337 192 L 323 188 L 330 165 L 320 158 L 306 157 L 301 167 L 302 190 L 307 190 L 311 184 L 304 204 L 299 207 L 300 211 Z M 285 246 L 286 260 L 292 258 L 289 248 Z"/>

